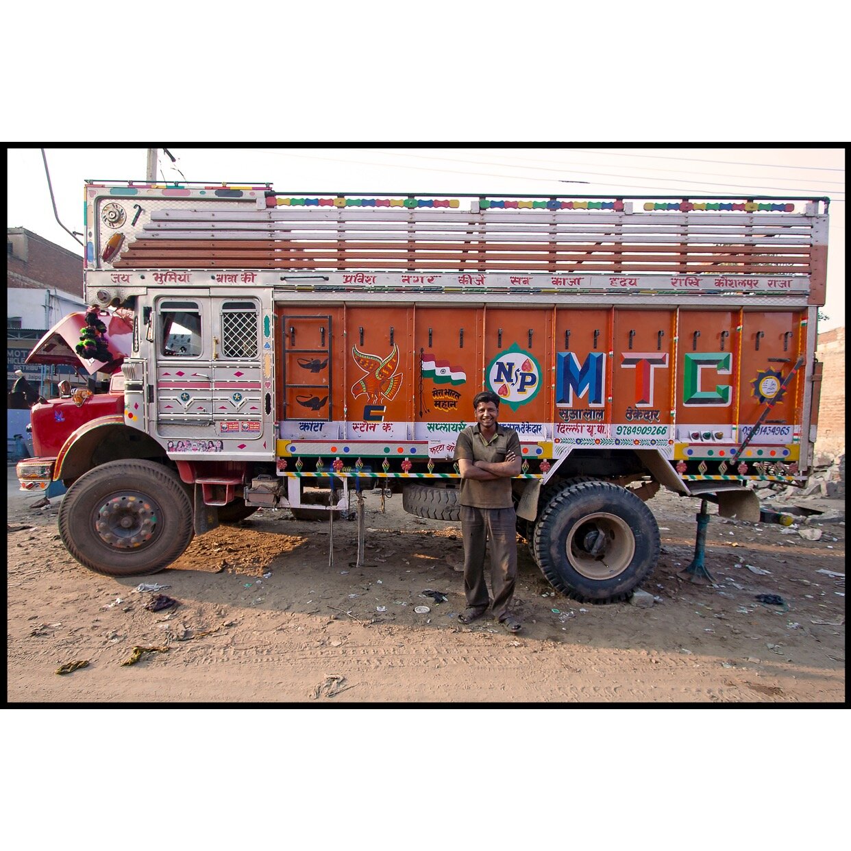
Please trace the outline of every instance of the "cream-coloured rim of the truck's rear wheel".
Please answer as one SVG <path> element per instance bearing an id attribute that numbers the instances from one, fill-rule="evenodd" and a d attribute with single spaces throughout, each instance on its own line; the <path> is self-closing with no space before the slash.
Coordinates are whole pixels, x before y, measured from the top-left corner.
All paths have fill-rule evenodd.
<path id="1" fill-rule="evenodd" d="M 629 567 L 636 543 L 625 520 L 600 511 L 583 517 L 570 530 L 565 550 L 577 573 L 590 580 L 608 580 Z"/>

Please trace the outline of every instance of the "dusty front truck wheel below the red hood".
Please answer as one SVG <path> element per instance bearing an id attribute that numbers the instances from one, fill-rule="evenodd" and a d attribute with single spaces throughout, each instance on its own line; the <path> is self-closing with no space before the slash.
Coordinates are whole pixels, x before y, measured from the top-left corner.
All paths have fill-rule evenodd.
<path id="1" fill-rule="evenodd" d="M 110 461 L 79 477 L 59 511 L 67 550 L 95 573 L 156 574 L 192 540 L 192 504 L 180 479 L 145 460 Z"/>

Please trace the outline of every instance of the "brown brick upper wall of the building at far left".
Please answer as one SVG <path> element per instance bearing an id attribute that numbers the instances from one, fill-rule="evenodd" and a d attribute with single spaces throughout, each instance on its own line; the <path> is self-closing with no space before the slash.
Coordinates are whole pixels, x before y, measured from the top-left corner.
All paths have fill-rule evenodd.
<path id="1" fill-rule="evenodd" d="M 83 257 L 22 227 L 7 228 L 6 287 L 55 287 L 83 298 Z M 82 249 L 81 249 L 82 250 Z"/>

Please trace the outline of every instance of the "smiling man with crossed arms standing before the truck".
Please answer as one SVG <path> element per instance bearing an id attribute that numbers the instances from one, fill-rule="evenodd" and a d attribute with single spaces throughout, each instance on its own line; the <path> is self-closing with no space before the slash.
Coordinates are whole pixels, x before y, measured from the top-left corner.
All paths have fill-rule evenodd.
<path id="1" fill-rule="evenodd" d="M 511 614 L 517 582 L 517 515 L 511 477 L 520 473 L 520 438 L 500 426 L 500 397 L 491 391 L 473 398 L 476 425 L 458 436 L 454 458 L 461 474 L 461 534 L 464 537 L 464 593 L 467 608 L 458 617 L 469 624 L 481 618 L 491 601 L 484 576 L 485 545 L 490 542 L 492 612 L 507 631 L 521 629 Z"/>

